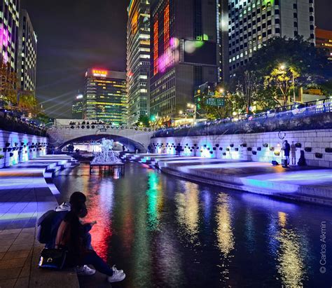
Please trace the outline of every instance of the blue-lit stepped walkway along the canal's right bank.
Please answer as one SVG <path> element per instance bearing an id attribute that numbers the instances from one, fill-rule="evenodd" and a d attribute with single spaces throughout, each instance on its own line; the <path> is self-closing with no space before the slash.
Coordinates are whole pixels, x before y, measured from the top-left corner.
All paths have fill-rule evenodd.
<path id="1" fill-rule="evenodd" d="M 272 166 L 270 163 L 198 157 L 136 158 L 163 172 L 192 181 L 291 200 L 332 206 L 332 170 L 321 167 Z"/>

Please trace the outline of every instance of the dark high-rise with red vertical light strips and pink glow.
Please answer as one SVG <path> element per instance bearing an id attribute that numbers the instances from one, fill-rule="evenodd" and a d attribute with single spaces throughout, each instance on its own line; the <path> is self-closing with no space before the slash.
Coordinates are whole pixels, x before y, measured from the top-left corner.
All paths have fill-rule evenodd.
<path id="1" fill-rule="evenodd" d="M 167 121 L 219 81 L 219 1 L 151 2 L 150 114 Z"/>

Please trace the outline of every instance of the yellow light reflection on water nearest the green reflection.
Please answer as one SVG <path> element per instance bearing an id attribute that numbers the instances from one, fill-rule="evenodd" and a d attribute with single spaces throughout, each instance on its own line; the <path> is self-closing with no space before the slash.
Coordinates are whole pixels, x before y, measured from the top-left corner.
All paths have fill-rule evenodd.
<path id="1" fill-rule="evenodd" d="M 200 245 L 198 240 L 199 222 L 199 193 L 198 185 L 184 182 L 184 193 L 177 193 L 175 203 L 177 205 L 177 221 L 184 229 L 186 240 L 193 245 Z"/>

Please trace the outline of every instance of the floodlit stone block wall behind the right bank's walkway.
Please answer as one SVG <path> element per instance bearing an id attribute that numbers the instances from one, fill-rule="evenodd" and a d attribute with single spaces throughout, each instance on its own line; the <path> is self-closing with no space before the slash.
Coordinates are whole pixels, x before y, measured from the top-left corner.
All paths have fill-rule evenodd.
<path id="1" fill-rule="evenodd" d="M 151 139 L 155 153 L 175 154 L 180 144 L 181 155 L 234 160 L 281 163 L 282 142 L 296 144 L 296 163 L 305 151 L 307 165 L 332 168 L 332 129 L 286 132 L 263 132 L 236 135 L 159 137 Z"/>

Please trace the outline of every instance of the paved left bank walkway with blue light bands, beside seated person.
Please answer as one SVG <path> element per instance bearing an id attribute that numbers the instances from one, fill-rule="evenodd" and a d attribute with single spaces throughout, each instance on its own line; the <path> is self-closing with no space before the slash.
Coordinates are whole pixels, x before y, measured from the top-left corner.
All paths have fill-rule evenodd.
<path id="1" fill-rule="evenodd" d="M 0 170 L 1 288 L 78 287 L 73 271 L 36 268 L 43 248 L 36 240 L 36 220 L 57 205 L 44 178 L 50 170 L 57 170 L 55 158 L 52 156 L 52 160 L 48 160 L 46 156 L 39 159 L 40 163 L 33 160 Z"/>

